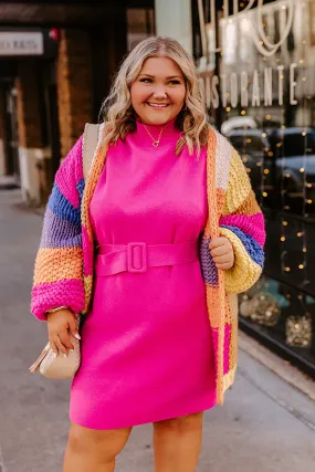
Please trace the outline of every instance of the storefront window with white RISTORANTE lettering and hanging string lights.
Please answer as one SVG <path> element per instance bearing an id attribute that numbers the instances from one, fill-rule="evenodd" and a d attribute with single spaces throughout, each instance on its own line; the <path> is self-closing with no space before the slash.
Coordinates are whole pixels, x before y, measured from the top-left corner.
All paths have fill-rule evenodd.
<path id="1" fill-rule="evenodd" d="M 239 2 L 233 14 L 230 2 L 229 14 L 207 17 L 218 49 L 216 67 L 200 73 L 214 126 L 240 153 L 265 214 L 264 277 L 240 297 L 241 318 L 312 359 L 315 374 L 315 0 L 264 3 Z M 200 61 L 198 34 L 195 51 Z"/>

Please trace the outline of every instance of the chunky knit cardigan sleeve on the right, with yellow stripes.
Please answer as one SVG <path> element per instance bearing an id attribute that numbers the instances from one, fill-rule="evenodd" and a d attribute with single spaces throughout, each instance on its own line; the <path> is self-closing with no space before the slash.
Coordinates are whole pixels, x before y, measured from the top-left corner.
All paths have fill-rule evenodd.
<path id="1" fill-rule="evenodd" d="M 224 208 L 219 225 L 221 235 L 231 241 L 235 255 L 233 268 L 224 271 L 227 291 L 244 292 L 261 275 L 265 230 L 262 211 L 235 149 L 232 149 Z"/>

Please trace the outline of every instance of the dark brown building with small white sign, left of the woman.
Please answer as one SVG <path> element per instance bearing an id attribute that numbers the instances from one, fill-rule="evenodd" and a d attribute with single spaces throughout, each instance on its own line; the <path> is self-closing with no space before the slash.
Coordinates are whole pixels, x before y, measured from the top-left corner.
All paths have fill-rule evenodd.
<path id="1" fill-rule="evenodd" d="M 46 201 L 53 176 L 96 123 L 124 55 L 154 34 L 153 1 L 1 2 L 0 178 L 28 204 Z"/>

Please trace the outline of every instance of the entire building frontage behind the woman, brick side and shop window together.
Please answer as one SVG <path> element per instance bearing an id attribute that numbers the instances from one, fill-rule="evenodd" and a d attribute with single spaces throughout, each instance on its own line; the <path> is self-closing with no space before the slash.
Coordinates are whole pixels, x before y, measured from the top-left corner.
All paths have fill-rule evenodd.
<path id="1" fill-rule="evenodd" d="M 240 326 L 315 377 L 315 0 L 42 3 L 1 4 L 0 176 L 43 203 L 123 56 L 176 38 L 265 214 L 264 274 L 240 296 Z"/>

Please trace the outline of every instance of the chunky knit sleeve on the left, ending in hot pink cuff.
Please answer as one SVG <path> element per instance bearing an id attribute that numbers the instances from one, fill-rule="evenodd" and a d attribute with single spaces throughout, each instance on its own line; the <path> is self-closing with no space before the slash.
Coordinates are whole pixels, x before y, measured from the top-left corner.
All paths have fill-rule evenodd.
<path id="1" fill-rule="evenodd" d="M 31 312 L 46 319 L 45 312 L 69 306 L 84 308 L 81 199 L 84 188 L 82 137 L 55 175 L 44 216 L 36 254 Z"/>

